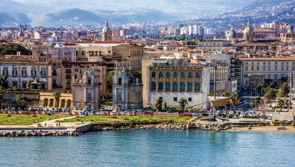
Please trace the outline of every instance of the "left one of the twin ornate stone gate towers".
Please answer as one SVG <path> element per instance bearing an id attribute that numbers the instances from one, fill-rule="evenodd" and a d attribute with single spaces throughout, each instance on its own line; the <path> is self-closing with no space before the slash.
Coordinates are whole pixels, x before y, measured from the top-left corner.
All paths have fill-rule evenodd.
<path id="1" fill-rule="evenodd" d="M 100 69 L 86 68 L 83 71 L 81 79 L 75 79 L 73 76 L 72 80 L 72 91 L 73 91 L 73 110 L 83 109 L 98 109 L 100 108 L 100 91 L 99 82 Z"/>

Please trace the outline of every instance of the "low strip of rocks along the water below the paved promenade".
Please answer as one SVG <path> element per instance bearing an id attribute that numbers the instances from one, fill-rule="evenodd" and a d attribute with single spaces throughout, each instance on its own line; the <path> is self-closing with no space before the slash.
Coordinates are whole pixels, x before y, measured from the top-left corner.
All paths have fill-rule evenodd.
<path id="1" fill-rule="evenodd" d="M 0 131 L 0 137 L 16 137 L 16 136 L 77 136 L 83 133 L 76 133 L 72 131 Z"/>

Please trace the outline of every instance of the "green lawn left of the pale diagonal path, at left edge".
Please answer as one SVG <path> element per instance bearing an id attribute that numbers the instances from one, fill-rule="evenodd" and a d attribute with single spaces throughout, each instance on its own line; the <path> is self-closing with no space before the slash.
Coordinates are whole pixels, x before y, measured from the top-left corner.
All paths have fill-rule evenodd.
<path id="1" fill-rule="evenodd" d="M 10 115 L 10 116 L 8 116 Z M 36 117 L 33 117 L 35 115 Z M 0 114 L 0 125 L 30 125 L 31 123 L 38 123 L 49 119 L 56 119 L 61 117 L 68 117 L 69 115 L 52 114 Z"/>

